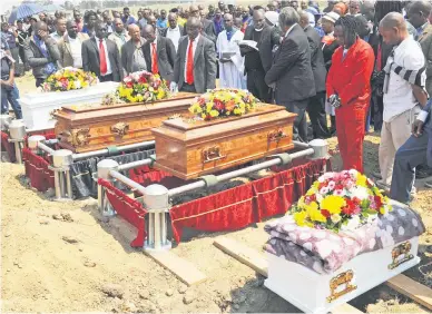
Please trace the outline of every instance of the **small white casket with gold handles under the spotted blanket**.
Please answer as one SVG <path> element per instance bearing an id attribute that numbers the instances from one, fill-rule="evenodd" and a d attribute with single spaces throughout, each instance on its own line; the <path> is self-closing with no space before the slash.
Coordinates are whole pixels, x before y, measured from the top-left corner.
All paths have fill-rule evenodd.
<path id="1" fill-rule="evenodd" d="M 332 274 L 318 274 L 271 253 L 265 286 L 305 313 L 327 313 L 419 264 L 419 237 L 361 254 Z"/>

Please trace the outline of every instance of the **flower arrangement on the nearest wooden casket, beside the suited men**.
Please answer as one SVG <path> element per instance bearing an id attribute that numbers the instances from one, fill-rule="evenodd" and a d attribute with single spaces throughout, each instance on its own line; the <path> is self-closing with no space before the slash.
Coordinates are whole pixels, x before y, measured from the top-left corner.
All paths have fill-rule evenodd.
<path id="1" fill-rule="evenodd" d="M 257 99 L 243 89 L 214 89 L 197 97 L 189 111 L 205 120 L 243 116 L 257 105 Z"/>

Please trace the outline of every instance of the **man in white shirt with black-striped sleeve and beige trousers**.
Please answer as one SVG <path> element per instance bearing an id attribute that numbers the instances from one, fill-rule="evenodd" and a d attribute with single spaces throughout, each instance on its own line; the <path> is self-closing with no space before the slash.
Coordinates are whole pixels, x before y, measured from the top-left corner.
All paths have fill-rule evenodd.
<path id="1" fill-rule="evenodd" d="M 422 106 L 426 102 L 423 89 L 425 61 L 420 45 L 410 37 L 402 14 L 391 12 L 385 16 L 380 22 L 380 33 L 385 43 L 394 46 L 384 68 L 384 112 L 379 149 L 382 179 L 377 184 L 389 189 L 395 154 L 411 136 L 411 126 L 421 110 L 419 102 Z"/>

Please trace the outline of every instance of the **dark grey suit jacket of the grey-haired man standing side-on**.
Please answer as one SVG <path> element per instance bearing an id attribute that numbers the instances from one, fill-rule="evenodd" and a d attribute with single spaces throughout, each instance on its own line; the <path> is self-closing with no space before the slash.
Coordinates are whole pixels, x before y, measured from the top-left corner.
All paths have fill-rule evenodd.
<path id="1" fill-rule="evenodd" d="M 275 98 L 281 105 L 316 95 L 310 43 L 298 24 L 282 41 L 273 66 L 265 76 L 265 82 L 276 82 Z"/>

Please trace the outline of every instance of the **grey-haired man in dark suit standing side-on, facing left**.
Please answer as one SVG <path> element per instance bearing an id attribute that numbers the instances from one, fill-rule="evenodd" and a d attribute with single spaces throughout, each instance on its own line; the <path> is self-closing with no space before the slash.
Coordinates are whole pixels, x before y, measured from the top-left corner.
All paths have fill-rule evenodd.
<path id="1" fill-rule="evenodd" d="M 307 37 L 298 26 L 300 17 L 293 8 L 283 8 L 279 26 L 284 39 L 277 49 L 265 82 L 275 89 L 276 104 L 284 105 L 297 114 L 293 138 L 307 141 L 306 107 L 316 95 L 314 75 L 311 67 L 311 52 Z"/>

